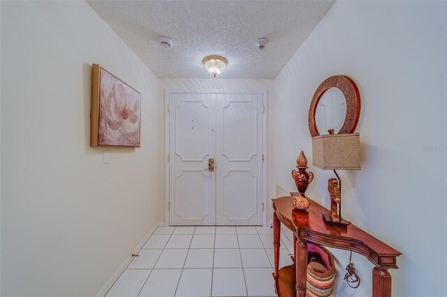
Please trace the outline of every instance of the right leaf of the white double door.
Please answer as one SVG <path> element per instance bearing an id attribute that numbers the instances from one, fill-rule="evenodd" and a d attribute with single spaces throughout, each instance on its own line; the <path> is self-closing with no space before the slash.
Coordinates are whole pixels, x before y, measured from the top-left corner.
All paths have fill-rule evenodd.
<path id="1" fill-rule="evenodd" d="M 263 94 L 216 101 L 216 224 L 262 224 Z"/>

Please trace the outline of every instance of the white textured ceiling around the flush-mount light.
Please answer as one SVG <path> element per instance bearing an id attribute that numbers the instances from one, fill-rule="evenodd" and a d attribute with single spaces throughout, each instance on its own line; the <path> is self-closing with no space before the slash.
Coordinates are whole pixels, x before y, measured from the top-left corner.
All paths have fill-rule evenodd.
<path id="1" fill-rule="evenodd" d="M 88 3 L 157 77 L 210 78 L 202 59 L 221 54 L 228 67 L 219 78 L 274 78 L 334 1 Z M 258 38 L 268 39 L 264 50 Z"/>

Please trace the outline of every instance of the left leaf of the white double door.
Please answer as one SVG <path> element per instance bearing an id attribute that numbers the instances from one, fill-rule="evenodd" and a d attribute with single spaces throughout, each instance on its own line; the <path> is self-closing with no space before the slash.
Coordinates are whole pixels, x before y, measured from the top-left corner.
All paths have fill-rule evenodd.
<path id="1" fill-rule="evenodd" d="M 171 93 L 169 97 L 170 224 L 215 224 L 215 96 Z"/>

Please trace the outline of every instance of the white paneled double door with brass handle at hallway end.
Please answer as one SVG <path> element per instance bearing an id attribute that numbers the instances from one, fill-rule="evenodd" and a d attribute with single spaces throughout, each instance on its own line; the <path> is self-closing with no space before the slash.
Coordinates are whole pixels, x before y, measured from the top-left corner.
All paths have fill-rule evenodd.
<path id="1" fill-rule="evenodd" d="M 263 93 L 167 100 L 169 223 L 263 224 Z"/>

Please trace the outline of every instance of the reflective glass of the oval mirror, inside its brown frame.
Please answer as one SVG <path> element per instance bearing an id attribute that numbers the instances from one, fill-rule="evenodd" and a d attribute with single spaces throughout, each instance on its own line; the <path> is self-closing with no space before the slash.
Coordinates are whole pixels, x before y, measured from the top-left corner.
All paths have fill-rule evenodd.
<path id="1" fill-rule="evenodd" d="M 315 112 L 316 129 L 320 134 L 328 134 L 329 129 L 337 134 L 346 118 L 346 99 L 338 88 L 325 91 L 318 100 Z"/>

